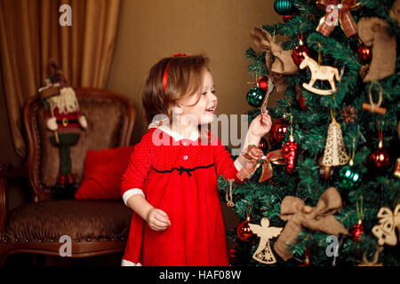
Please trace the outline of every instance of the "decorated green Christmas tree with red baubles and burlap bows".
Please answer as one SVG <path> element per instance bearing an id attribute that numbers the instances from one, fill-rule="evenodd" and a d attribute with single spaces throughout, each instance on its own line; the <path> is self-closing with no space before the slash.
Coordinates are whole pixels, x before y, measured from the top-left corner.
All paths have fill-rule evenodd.
<path id="1" fill-rule="evenodd" d="M 276 0 L 283 22 L 251 31 L 249 122 L 280 99 L 250 180 L 219 177 L 232 264 L 400 265 L 399 7 Z"/>

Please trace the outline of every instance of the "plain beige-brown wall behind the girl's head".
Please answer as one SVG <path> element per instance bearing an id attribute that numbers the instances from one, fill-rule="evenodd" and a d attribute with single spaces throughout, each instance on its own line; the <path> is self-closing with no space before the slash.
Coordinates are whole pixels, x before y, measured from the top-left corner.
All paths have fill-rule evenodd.
<path id="1" fill-rule="evenodd" d="M 252 45 L 249 31 L 280 16 L 273 0 L 123 0 L 115 58 L 108 89 L 132 99 L 138 119 L 135 138 L 146 130 L 141 91 L 148 69 L 176 52 L 205 53 L 219 97 L 216 114 L 245 114 L 245 100 L 255 79 L 248 73 L 244 51 Z M 271 98 L 271 102 L 274 99 Z"/>

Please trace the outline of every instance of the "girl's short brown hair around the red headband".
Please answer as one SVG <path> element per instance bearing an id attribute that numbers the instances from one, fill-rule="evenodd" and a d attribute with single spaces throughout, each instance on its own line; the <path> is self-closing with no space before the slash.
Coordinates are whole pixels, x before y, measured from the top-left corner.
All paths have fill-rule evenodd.
<path id="1" fill-rule="evenodd" d="M 167 85 L 164 91 L 164 71 L 168 63 Z M 195 55 L 161 59 L 151 67 L 142 98 L 147 122 L 150 123 L 156 114 L 165 114 L 171 121 L 173 103 L 196 94 L 202 87 L 204 71 L 209 70 L 208 64 L 207 57 Z M 200 94 L 196 103 L 199 99 Z"/>

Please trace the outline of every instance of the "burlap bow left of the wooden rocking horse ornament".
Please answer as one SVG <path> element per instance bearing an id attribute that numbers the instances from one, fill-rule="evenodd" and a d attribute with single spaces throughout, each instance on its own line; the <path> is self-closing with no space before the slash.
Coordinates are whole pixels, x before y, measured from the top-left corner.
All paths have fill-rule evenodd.
<path id="1" fill-rule="evenodd" d="M 267 69 L 273 77 L 276 91 L 282 93 L 286 89 L 286 78 L 284 75 L 295 74 L 299 67 L 293 62 L 292 50 L 284 51 L 282 43 L 275 43 L 273 37 L 262 28 L 253 28 L 250 31 L 252 42 L 261 50 L 266 51 Z"/>

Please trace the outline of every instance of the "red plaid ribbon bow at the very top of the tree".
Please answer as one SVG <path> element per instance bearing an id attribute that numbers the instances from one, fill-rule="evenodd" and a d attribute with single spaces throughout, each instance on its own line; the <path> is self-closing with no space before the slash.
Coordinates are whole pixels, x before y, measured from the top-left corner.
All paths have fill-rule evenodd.
<path id="1" fill-rule="evenodd" d="M 346 36 L 354 36 L 357 33 L 356 21 L 351 15 L 351 10 L 358 9 L 360 4 L 356 0 L 318 0 L 316 4 L 326 10 L 329 5 L 334 5 L 333 9 L 326 10 L 325 16 L 320 20 L 316 31 L 324 36 L 331 35 L 335 28 L 336 19 L 340 21 L 340 27 L 343 29 Z M 333 20 L 332 20 L 333 18 Z"/>

